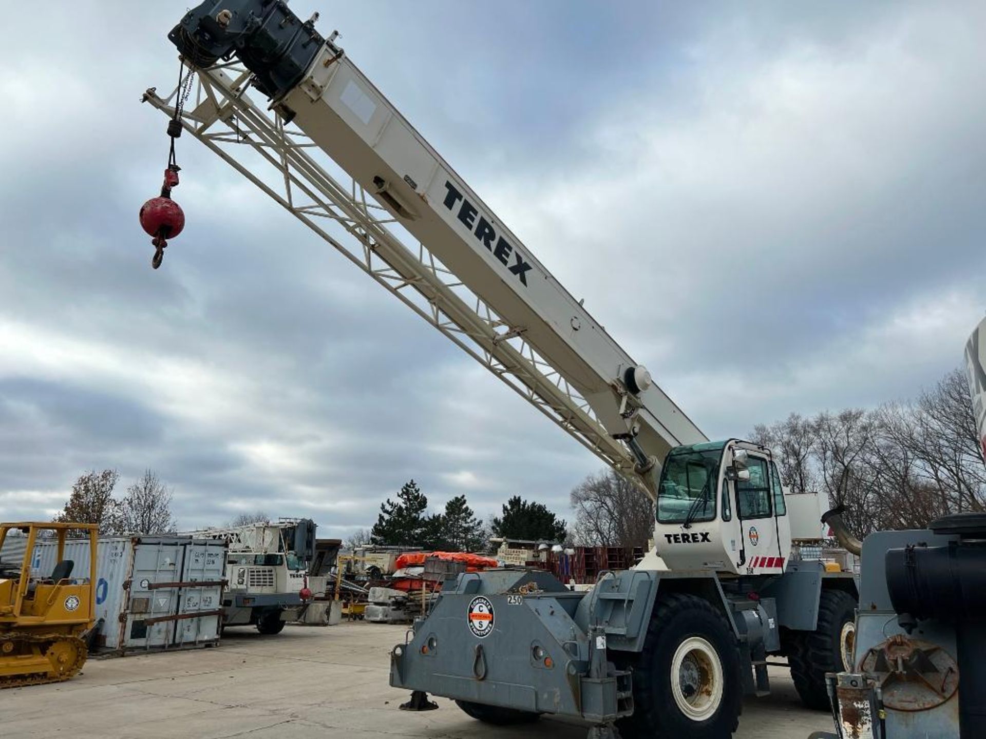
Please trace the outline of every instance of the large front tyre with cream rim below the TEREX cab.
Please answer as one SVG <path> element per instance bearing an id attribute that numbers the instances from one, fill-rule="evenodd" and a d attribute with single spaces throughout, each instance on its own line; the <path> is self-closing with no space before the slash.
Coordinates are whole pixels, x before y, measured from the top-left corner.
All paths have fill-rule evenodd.
<path id="1" fill-rule="evenodd" d="M 726 617 L 707 600 L 663 595 L 644 648 L 630 664 L 634 710 L 618 724 L 624 737 L 733 736 L 742 710 L 740 651 Z"/>

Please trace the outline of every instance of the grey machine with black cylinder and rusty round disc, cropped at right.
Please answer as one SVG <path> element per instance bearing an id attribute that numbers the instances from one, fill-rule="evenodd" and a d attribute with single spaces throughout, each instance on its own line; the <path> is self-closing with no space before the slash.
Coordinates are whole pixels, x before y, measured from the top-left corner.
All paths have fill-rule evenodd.
<path id="1" fill-rule="evenodd" d="M 986 515 L 863 543 L 854 668 L 828 676 L 835 733 L 816 739 L 986 736 Z"/>

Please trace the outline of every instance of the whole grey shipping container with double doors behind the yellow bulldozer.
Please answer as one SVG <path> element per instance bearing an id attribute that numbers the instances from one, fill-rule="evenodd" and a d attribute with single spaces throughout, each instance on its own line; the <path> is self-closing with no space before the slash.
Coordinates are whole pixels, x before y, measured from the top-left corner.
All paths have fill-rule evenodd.
<path id="1" fill-rule="evenodd" d="M 32 574 L 54 570 L 57 542 L 35 545 Z M 65 542 L 75 572 L 89 571 L 89 544 Z M 110 650 L 216 643 L 226 542 L 189 536 L 101 538 L 97 548 L 96 644 Z"/>

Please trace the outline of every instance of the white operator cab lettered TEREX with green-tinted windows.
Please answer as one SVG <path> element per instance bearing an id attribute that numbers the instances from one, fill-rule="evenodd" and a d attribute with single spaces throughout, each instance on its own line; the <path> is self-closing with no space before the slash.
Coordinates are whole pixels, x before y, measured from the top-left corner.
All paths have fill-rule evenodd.
<path id="1" fill-rule="evenodd" d="M 671 449 L 661 471 L 655 544 L 673 571 L 782 573 L 791 523 L 770 450 L 739 439 Z"/>

